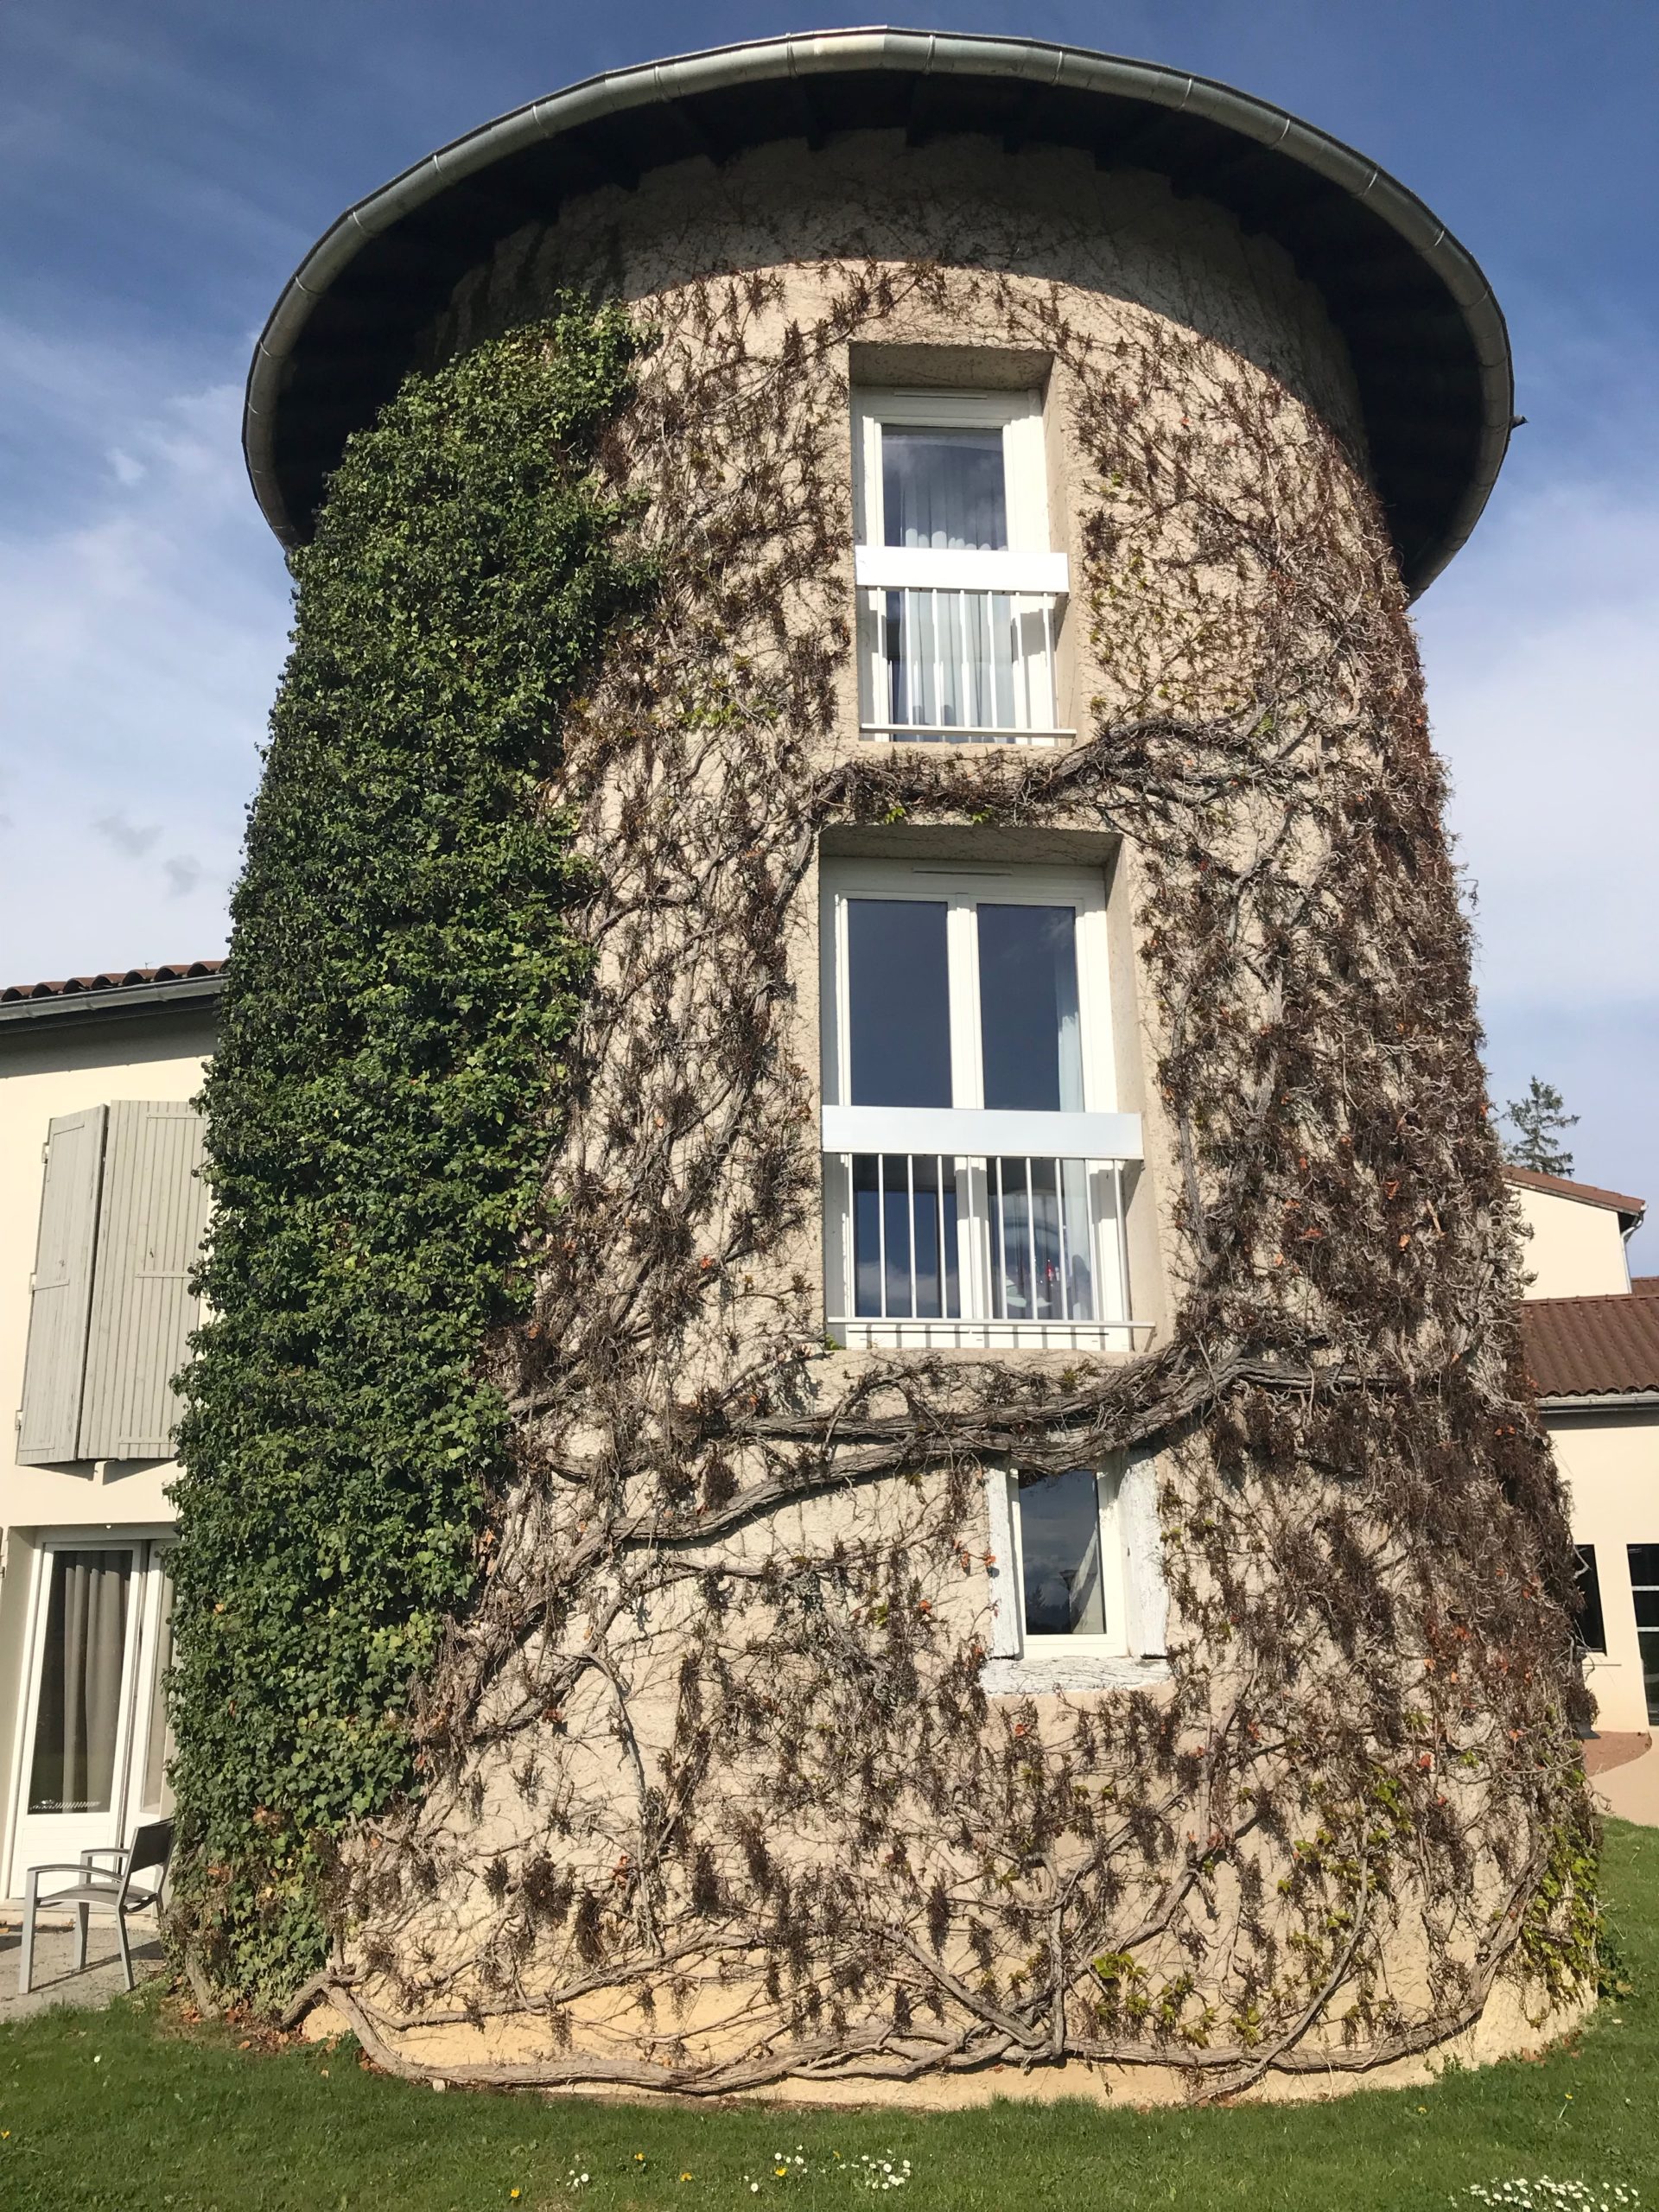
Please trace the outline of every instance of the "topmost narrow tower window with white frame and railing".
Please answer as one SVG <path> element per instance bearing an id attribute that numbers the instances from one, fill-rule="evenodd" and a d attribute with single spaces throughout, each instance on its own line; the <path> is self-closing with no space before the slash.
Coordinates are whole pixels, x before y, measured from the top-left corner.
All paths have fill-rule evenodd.
<path id="1" fill-rule="evenodd" d="M 856 394 L 854 491 L 865 737 L 1064 734 L 1040 396 Z"/>

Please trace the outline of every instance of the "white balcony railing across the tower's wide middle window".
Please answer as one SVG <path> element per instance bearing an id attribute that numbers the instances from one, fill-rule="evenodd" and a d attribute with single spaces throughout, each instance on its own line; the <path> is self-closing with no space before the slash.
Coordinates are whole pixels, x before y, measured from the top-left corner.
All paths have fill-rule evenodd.
<path id="1" fill-rule="evenodd" d="M 823 1124 L 838 1343 L 1133 1347 L 1135 1115 L 827 1106 Z"/>

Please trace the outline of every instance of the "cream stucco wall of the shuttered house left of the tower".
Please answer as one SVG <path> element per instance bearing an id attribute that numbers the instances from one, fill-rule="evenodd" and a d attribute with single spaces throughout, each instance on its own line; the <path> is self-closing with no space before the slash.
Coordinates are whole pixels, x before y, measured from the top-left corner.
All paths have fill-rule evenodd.
<path id="1" fill-rule="evenodd" d="M 9 1851 L 18 1697 L 35 1537 L 173 1524 L 173 1460 L 20 1467 L 15 1411 L 29 1343 L 46 1126 L 113 1099 L 188 1099 L 201 1088 L 215 1015 L 204 1006 L 113 1020 L 0 1024 L 0 1865 Z"/>

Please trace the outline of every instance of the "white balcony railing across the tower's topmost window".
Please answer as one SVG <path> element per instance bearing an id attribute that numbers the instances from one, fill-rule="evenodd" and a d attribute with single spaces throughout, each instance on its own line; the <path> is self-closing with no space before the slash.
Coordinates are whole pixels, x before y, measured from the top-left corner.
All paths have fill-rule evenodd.
<path id="1" fill-rule="evenodd" d="M 1053 743 L 1064 553 L 860 546 L 863 734 Z"/>

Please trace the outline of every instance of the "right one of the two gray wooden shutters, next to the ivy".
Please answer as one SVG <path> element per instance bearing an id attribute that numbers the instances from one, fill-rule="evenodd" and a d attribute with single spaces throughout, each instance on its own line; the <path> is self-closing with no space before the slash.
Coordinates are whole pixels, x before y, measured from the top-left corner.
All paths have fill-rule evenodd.
<path id="1" fill-rule="evenodd" d="M 84 1460 L 161 1460 L 197 1301 L 190 1270 L 208 1192 L 201 1121 L 184 1099 L 115 1099 L 97 1219 L 93 1325 L 80 1413 Z"/>

